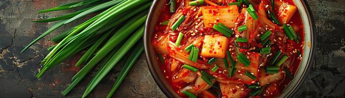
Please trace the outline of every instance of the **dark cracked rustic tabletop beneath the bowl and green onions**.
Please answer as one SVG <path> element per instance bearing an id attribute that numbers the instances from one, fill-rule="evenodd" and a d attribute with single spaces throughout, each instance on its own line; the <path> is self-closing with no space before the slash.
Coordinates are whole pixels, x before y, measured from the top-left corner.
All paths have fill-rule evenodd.
<path id="1" fill-rule="evenodd" d="M 26 45 L 54 23 L 31 23 L 31 20 L 60 16 L 69 11 L 37 14 L 70 0 L 0 0 L 0 98 L 61 98 L 80 68 L 73 67 L 80 54 L 36 79 L 40 61 L 54 45 L 49 40 L 59 32 L 85 19 L 63 26 L 40 40 L 24 53 Z M 345 98 L 345 0 L 308 0 L 316 23 L 315 64 L 296 98 Z M 89 97 L 104 98 L 121 67 L 115 67 Z M 94 71 L 95 72 L 95 71 Z M 67 98 L 81 97 L 93 75 L 84 79 Z M 144 55 L 130 70 L 116 98 L 164 98 L 149 73 Z"/>

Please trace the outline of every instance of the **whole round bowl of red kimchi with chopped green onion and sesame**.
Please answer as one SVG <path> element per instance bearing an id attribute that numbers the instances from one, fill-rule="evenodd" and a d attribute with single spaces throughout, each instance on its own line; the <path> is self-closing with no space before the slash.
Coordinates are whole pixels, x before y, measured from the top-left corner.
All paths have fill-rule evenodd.
<path id="1" fill-rule="evenodd" d="M 144 45 L 169 98 L 289 98 L 315 33 L 305 0 L 154 0 Z"/>

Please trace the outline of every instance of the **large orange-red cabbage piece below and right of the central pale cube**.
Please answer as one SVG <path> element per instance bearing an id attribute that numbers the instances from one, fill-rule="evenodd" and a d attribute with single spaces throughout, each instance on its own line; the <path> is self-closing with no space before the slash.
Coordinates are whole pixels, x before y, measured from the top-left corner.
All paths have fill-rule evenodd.
<path id="1" fill-rule="evenodd" d="M 253 73 L 256 77 L 259 76 L 258 69 L 259 69 L 259 58 L 261 55 L 257 52 L 249 52 L 250 54 L 243 53 L 245 56 L 249 57 L 249 61 L 251 62 L 248 67 L 245 67 L 240 61 L 237 61 L 235 68 L 237 69 L 234 73 L 233 77 L 229 77 L 228 73 L 214 73 L 217 75 L 216 81 L 221 83 L 245 83 L 245 84 L 253 84 L 256 80 L 253 80 L 252 78 L 248 77 L 244 74 L 245 71 L 249 71 L 250 73 Z M 235 61 L 237 59 L 236 55 L 232 55 L 233 60 Z M 230 61 L 227 58 L 227 62 L 229 66 L 231 66 Z M 214 62 L 214 64 L 218 65 L 221 69 L 226 69 L 223 63 L 223 59 L 217 58 L 217 60 Z M 254 82 L 253 82 L 254 81 Z"/>

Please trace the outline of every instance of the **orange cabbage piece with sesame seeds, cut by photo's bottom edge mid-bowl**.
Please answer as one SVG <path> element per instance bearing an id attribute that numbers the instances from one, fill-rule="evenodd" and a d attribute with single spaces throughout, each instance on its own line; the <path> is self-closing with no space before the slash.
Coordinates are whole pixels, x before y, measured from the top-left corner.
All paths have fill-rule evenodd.
<path id="1" fill-rule="evenodd" d="M 219 83 L 223 98 L 245 98 L 249 90 L 244 84 L 237 83 Z"/>

